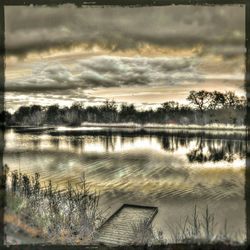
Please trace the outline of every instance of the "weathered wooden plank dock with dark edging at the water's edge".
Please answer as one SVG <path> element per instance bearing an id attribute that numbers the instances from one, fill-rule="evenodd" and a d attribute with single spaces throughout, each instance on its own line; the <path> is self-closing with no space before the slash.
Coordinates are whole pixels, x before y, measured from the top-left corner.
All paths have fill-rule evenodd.
<path id="1" fill-rule="evenodd" d="M 149 226 L 157 212 L 157 207 L 124 204 L 99 228 L 96 242 L 129 245 L 135 240 L 133 226 L 142 222 Z"/>

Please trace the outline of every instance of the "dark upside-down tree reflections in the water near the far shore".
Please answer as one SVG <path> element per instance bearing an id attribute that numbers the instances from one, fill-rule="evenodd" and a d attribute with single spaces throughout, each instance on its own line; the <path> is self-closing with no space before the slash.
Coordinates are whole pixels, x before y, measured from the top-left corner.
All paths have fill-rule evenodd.
<path id="1" fill-rule="evenodd" d="M 187 133 L 187 132 L 159 132 L 142 130 L 100 130 L 100 131 L 75 131 L 67 134 L 70 138 L 70 144 L 75 149 L 84 146 L 84 138 L 88 136 L 88 143 L 100 143 L 106 152 L 114 152 L 121 142 L 121 147 L 125 144 L 134 144 L 135 140 L 152 140 L 156 138 L 162 149 L 175 153 L 180 148 L 186 148 L 189 152 L 186 154 L 190 162 L 232 162 L 235 158 L 244 159 L 246 144 L 244 136 L 226 135 L 226 134 L 208 134 L 208 133 Z M 120 138 L 120 140 L 118 140 Z M 195 147 L 193 143 L 195 142 Z M 51 140 L 55 146 L 59 141 Z"/>

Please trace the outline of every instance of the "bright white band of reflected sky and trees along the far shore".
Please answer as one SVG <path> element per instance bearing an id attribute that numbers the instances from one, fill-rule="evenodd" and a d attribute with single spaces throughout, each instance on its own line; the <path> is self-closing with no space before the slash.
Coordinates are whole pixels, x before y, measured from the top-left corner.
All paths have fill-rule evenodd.
<path id="1" fill-rule="evenodd" d="M 183 132 L 152 132 L 152 131 L 72 131 L 61 135 L 17 135 L 19 142 L 29 149 L 43 148 L 66 149 L 83 153 L 117 152 L 130 148 L 149 147 L 154 150 L 162 149 L 166 152 L 183 150 L 189 162 L 233 162 L 243 159 L 246 153 L 244 135 L 242 134 L 210 134 L 210 133 L 183 133 Z M 27 140 L 30 137 L 30 140 Z M 48 141 L 45 145 L 44 140 Z M 11 143 L 10 143 L 11 144 Z M 13 145 L 8 145 L 12 147 Z M 9 148 L 7 146 L 7 149 Z M 19 148 L 20 149 L 20 148 Z"/>

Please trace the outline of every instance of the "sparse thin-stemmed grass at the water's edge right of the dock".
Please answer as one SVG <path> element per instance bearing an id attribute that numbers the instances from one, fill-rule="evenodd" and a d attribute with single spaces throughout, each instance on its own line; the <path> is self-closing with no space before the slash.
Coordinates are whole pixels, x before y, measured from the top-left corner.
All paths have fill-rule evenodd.
<path id="1" fill-rule="evenodd" d="M 218 233 L 218 223 L 215 216 L 209 211 L 208 206 L 203 210 L 198 210 L 194 206 L 193 213 L 184 218 L 180 217 L 179 222 L 167 225 L 168 236 L 164 236 L 161 230 L 156 230 L 147 221 L 133 224 L 135 235 L 134 244 L 166 245 L 175 243 L 188 244 L 228 244 L 239 245 L 245 242 L 245 236 L 241 232 L 229 233 L 227 221 L 224 228 Z M 216 232 L 217 231 L 217 232 Z"/>

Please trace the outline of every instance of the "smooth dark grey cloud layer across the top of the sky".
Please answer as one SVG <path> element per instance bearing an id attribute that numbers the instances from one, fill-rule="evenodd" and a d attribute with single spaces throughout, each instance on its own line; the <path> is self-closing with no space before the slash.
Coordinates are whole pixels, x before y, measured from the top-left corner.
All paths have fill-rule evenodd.
<path id="1" fill-rule="evenodd" d="M 244 47 L 245 17 L 240 6 L 11 6 L 5 8 L 5 17 L 7 53 L 13 55 L 83 43 L 111 50 L 137 49 L 144 43 Z"/>

